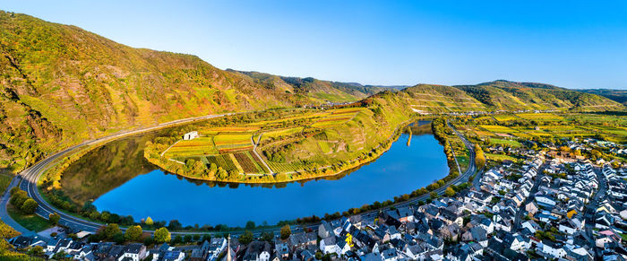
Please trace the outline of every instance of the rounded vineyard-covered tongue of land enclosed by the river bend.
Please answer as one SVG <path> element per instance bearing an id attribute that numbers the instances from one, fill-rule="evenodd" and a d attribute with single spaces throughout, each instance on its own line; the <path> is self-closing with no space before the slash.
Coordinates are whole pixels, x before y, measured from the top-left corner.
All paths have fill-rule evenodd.
<path id="1" fill-rule="evenodd" d="M 411 111 L 381 94 L 329 109 L 271 109 L 190 126 L 148 142 L 144 157 L 186 178 L 275 183 L 337 175 L 389 149 Z"/>

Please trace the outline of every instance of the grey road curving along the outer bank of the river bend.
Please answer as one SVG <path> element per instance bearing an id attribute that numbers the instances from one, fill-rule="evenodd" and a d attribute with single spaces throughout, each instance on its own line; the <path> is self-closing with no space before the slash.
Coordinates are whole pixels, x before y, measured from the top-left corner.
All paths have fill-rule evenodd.
<path id="1" fill-rule="evenodd" d="M 80 217 L 73 216 L 73 215 L 68 214 L 68 213 L 64 213 L 63 211 L 58 211 L 58 210 L 56 210 L 56 208 L 53 205 L 48 204 L 47 201 L 43 198 L 43 196 L 41 196 L 39 194 L 39 190 L 37 188 L 37 180 L 45 172 L 45 170 L 49 169 L 50 167 L 52 167 L 54 165 L 56 160 L 62 159 L 66 154 L 68 154 L 70 152 L 73 152 L 73 151 L 75 151 L 75 150 L 77 150 L 79 148 L 82 148 L 84 146 L 89 146 L 89 145 L 92 145 L 92 144 L 99 144 L 99 143 L 104 143 L 104 142 L 110 142 L 110 141 L 113 141 L 113 140 L 115 140 L 117 138 L 120 138 L 120 137 L 124 137 L 124 136 L 128 136 L 128 135 L 136 135 L 136 134 L 140 134 L 142 132 L 155 130 L 155 129 L 159 129 L 159 128 L 163 128 L 163 127 L 167 127 L 167 126 L 176 126 L 176 125 L 180 125 L 180 124 L 190 123 L 190 122 L 193 122 L 193 121 L 208 119 L 208 118 L 212 118 L 212 117 L 225 117 L 225 116 L 229 116 L 229 115 L 233 115 L 233 114 L 234 113 L 227 113 L 227 114 L 210 115 L 210 116 L 204 116 L 204 117 L 192 117 L 192 118 L 179 119 L 179 120 L 176 120 L 176 121 L 160 124 L 159 126 L 152 126 L 152 127 L 137 129 L 137 130 L 133 130 L 133 131 L 127 131 L 127 132 L 119 133 L 119 134 L 116 134 L 116 135 L 109 135 L 109 136 L 102 137 L 102 138 L 99 138 L 99 139 L 96 139 L 96 140 L 85 142 L 83 144 L 74 145 L 74 146 L 72 146 L 70 148 L 65 149 L 64 151 L 61 151 L 61 152 L 56 152 L 52 156 L 47 157 L 45 160 L 39 161 L 36 164 L 32 165 L 29 169 L 22 171 L 19 176 L 16 176 L 14 178 L 11 186 L 9 186 L 7 188 L 7 190 L 5 191 L 5 193 L 4 193 L 3 200 L 2 200 L 2 205 L 0 205 L 0 208 L 1 208 L 1 210 L 0 210 L 0 218 L 2 218 L 2 220 L 6 221 L 7 223 L 10 223 L 10 224 L 13 224 L 13 225 L 17 225 L 15 227 L 16 230 L 22 231 L 22 232 L 24 231 L 24 229 L 21 228 L 21 226 L 19 226 L 16 222 L 13 222 L 11 217 L 8 214 L 6 214 L 6 204 L 8 203 L 8 191 L 12 187 L 15 187 L 17 184 L 20 184 L 19 186 L 21 187 L 21 189 L 26 191 L 30 197 L 32 197 L 33 199 L 35 199 L 39 203 L 39 207 L 38 207 L 38 209 L 36 211 L 36 213 L 39 216 L 47 219 L 47 217 L 48 217 L 48 215 L 50 213 L 58 213 L 61 216 L 61 219 L 59 221 L 60 224 L 66 226 L 66 227 L 75 229 L 75 230 L 95 232 L 103 225 L 102 223 L 90 222 L 90 221 L 84 220 L 84 219 L 82 219 Z M 474 175 L 475 172 L 477 171 L 477 166 L 475 165 L 475 152 L 474 152 L 473 144 L 468 142 L 468 140 L 463 135 L 461 135 L 460 132 L 458 132 L 456 129 L 454 129 L 448 123 L 448 121 L 447 121 L 447 125 L 449 127 L 451 127 L 451 129 L 455 132 L 455 134 L 460 137 L 462 142 L 466 145 L 466 147 L 468 149 L 468 152 L 470 152 L 470 157 L 468 159 L 469 160 L 469 165 L 468 165 L 468 170 L 466 170 L 460 176 L 458 176 L 457 178 L 453 178 L 451 181 L 446 183 L 444 186 L 435 189 L 434 191 L 438 195 L 443 195 L 444 191 L 446 190 L 446 188 L 451 186 L 451 185 L 459 185 L 459 184 L 461 184 L 463 182 L 468 181 L 468 178 L 470 178 L 472 175 Z M 427 198 L 429 198 L 429 195 L 417 196 L 417 197 L 414 197 L 414 198 L 412 198 L 412 199 L 410 199 L 410 200 L 408 200 L 406 202 L 402 202 L 402 203 L 399 203 L 399 204 L 393 204 L 393 206 L 401 207 L 401 206 L 407 206 L 409 204 L 416 204 L 418 201 L 425 201 Z M 371 211 L 371 212 L 368 212 L 368 213 L 362 213 L 362 215 L 365 216 L 365 217 L 371 217 L 371 216 L 376 215 L 378 212 L 379 212 L 379 210 L 374 210 L 374 211 Z M 297 232 L 297 231 L 302 231 L 303 229 L 309 229 L 309 228 L 315 229 L 315 228 L 317 228 L 318 224 L 319 223 L 312 223 L 312 224 L 307 224 L 307 225 L 302 226 L 302 227 L 292 226 L 292 231 Z M 125 228 L 122 228 L 122 230 L 125 231 Z M 277 233 L 277 232 L 279 232 L 279 228 L 257 230 L 257 231 L 254 231 L 253 234 L 258 236 L 259 234 L 261 234 L 262 231 L 271 231 L 273 233 Z M 145 231 L 145 232 L 153 232 L 153 231 Z M 233 232 L 233 234 L 236 235 L 236 234 L 238 234 L 240 232 Z M 209 233 L 209 234 L 222 234 L 223 232 L 191 231 L 191 232 L 172 232 L 172 233 L 173 234 L 203 234 L 203 233 L 204 234 L 207 234 L 207 233 Z"/>

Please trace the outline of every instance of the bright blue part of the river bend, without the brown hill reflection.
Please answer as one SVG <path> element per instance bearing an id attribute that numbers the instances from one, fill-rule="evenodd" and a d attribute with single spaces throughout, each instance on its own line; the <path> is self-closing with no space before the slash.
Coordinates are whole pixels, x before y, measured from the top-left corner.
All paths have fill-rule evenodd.
<path id="1" fill-rule="evenodd" d="M 401 135 L 378 160 L 337 180 L 279 187 L 216 185 L 149 170 L 99 196 L 94 204 L 99 211 L 130 214 L 136 221 L 150 216 L 155 221 L 176 219 L 184 225 L 274 224 L 313 214 L 341 213 L 409 193 L 447 175 L 446 156 L 433 135 L 413 135 L 409 146 L 408 137 Z"/>

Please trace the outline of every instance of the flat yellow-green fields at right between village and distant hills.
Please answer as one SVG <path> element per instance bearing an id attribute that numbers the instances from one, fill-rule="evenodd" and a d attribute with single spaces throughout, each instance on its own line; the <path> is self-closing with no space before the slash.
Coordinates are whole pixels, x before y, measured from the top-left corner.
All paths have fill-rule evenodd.
<path id="1" fill-rule="evenodd" d="M 512 118 L 517 117 L 517 118 Z M 564 143 L 601 144 L 593 145 L 592 151 L 603 152 L 606 161 L 618 159 L 624 161 L 622 155 L 610 152 L 609 146 L 601 142 L 627 144 L 627 117 L 620 113 L 520 113 L 494 115 L 492 118 L 465 118 L 458 129 L 466 130 L 473 143 L 485 148 L 485 156 L 491 161 L 520 161 L 515 157 L 499 152 L 497 146 L 516 148 L 535 148 L 536 144 Z M 588 140 L 591 138 L 592 140 Z M 528 143 L 528 141 L 533 141 Z M 544 150 L 547 147 L 542 147 Z M 515 150 L 514 150 L 515 151 Z M 511 153 L 509 150 L 504 152 Z M 584 152 L 586 157 L 596 159 Z"/>

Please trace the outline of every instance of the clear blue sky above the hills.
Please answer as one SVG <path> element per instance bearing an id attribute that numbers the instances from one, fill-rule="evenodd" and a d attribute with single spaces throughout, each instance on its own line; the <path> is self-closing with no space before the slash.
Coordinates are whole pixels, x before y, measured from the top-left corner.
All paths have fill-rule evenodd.
<path id="1" fill-rule="evenodd" d="M 627 89 L 627 1 L 2 1 L 219 68 L 365 84 Z"/>

